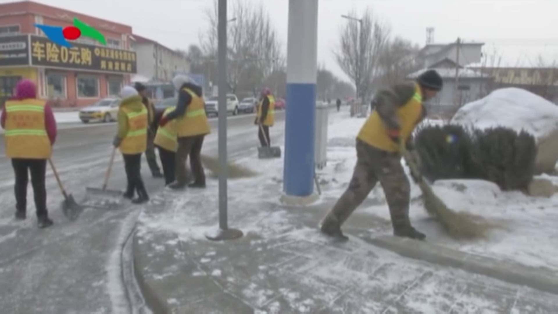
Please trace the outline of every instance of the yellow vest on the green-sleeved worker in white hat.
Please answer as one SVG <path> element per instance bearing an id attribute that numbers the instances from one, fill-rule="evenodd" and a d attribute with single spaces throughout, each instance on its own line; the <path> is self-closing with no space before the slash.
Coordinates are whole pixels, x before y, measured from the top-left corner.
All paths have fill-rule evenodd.
<path id="1" fill-rule="evenodd" d="M 141 111 L 133 111 L 126 106 L 120 110 L 126 114 L 128 133 L 119 148 L 122 154 L 143 154 L 147 149 L 147 109 L 142 106 Z"/>

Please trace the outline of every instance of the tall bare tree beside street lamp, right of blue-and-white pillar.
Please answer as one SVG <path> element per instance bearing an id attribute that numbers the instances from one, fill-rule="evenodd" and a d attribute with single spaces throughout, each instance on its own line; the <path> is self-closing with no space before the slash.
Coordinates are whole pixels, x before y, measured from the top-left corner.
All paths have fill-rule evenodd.
<path id="1" fill-rule="evenodd" d="M 351 15 L 357 16 L 354 11 Z M 353 81 L 357 88 L 357 97 L 361 97 L 363 102 L 371 92 L 373 79 L 378 75 L 378 61 L 388 37 L 388 27 L 368 9 L 359 21 L 349 20 L 339 34 L 339 47 L 334 51 L 335 59 Z"/>

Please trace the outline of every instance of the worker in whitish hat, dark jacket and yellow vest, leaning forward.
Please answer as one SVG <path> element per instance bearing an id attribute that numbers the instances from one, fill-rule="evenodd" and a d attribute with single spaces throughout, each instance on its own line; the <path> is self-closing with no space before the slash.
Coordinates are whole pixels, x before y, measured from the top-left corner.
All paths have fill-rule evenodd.
<path id="1" fill-rule="evenodd" d="M 201 87 L 186 75 L 177 75 L 172 84 L 179 92 L 176 109 L 163 116 L 160 126 L 175 120 L 178 136 L 176 151 L 175 182 L 168 185 L 171 189 L 182 189 L 188 185 L 186 159 L 190 156 L 190 168 L 194 182 L 191 188 L 205 188 L 205 174 L 201 165 L 201 147 L 204 137 L 210 132 L 208 118 L 205 114 L 205 104 Z"/>

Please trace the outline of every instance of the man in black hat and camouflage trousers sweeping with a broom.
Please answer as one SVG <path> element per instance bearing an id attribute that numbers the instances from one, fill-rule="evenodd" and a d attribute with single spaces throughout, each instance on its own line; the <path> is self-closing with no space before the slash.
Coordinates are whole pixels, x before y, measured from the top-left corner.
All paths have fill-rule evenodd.
<path id="1" fill-rule="evenodd" d="M 357 136 L 357 165 L 347 191 L 321 223 L 321 231 L 348 240 L 341 225 L 364 201 L 378 181 L 391 215 L 393 234 L 424 240 L 409 220 L 410 184 L 401 165 L 400 143 L 410 144 L 416 125 L 426 115 L 422 102 L 442 89 L 442 78 L 427 70 L 413 84 L 395 85 L 376 94 L 376 107 Z"/>

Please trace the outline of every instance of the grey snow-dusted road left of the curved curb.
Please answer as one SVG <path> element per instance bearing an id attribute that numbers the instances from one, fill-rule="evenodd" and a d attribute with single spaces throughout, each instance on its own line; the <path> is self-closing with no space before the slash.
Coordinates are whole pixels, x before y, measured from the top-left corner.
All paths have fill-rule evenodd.
<path id="1" fill-rule="evenodd" d="M 258 141 L 254 116 L 228 117 L 227 121 L 229 159 L 251 150 L 255 154 Z M 277 138 L 283 134 L 284 112 L 276 113 L 276 121 L 271 132 Z M 210 124 L 212 133 L 206 137 L 203 153 L 217 156 L 217 120 L 211 119 Z M 102 185 L 114 134 L 114 123 L 59 131 L 52 159 L 66 189 L 78 202 L 86 186 Z M 163 188 L 163 180 L 151 178 L 145 158 L 142 161 L 143 178 L 153 196 Z M 141 207 L 127 204 L 117 210 L 88 208 L 79 220 L 68 222 L 59 211 L 62 197 L 50 169 L 46 185 L 55 225 L 37 229 L 31 187 L 28 218 L 16 222 L 13 172 L 0 136 L 0 312 L 129 312 L 119 268 L 122 232 L 134 222 Z M 123 161 L 118 155 L 108 188 L 122 190 L 125 185 Z"/>

